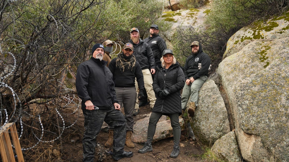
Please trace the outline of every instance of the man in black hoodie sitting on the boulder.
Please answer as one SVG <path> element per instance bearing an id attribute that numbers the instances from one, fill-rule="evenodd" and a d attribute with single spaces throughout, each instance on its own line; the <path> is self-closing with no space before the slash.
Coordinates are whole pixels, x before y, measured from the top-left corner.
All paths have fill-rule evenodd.
<path id="1" fill-rule="evenodd" d="M 202 46 L 198 41 L 191 44 L 192 55 L 186 59 L 184 66 L 184 74 L 186 84 L 181 95 L 182 110 L 186 110 L 188 99 L 190 99 L 190 107 L 188 115 L 194 117 L 195 109 L 198 106 L 198 95 L 201 86 L 208 79 L 208 69 L 210 68 L 211 59 L 203 52 Z M 199 68 L 201 65 L 201 68 Z M 187 123 L 188 134 L 194 140 L 194 134 L 190 123 Z"/>

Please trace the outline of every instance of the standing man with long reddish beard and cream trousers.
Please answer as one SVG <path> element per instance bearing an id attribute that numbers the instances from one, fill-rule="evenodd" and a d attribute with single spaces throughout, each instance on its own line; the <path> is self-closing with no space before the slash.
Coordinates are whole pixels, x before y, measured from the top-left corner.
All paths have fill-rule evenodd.
<path id="1" fill-rule="evenodd" d="M 153 79 L 152 74 L 155 74 L 155 59 L 153 57 L 153 51 L 144 40 L 140 39 L 138 28 L 132 28 L 130 30 L 130 40 L 129 43 L 133 44 L 134 52 L 133 55 L 136 57 L 136 61 L 140 63 L 142 69 L 142 74 L 144 76 L 144 88 L 147 91 L 147 96 L 150 100 L 151 109 L 155 105 L 155 93 L 153 91 Z M 136 91 L 143 95 L 143 91 L 138 90 L 136 84 Z M 134 115 L 137 115 L 139 112 L 138 103 L 136 103 L 134 109 Z"/>

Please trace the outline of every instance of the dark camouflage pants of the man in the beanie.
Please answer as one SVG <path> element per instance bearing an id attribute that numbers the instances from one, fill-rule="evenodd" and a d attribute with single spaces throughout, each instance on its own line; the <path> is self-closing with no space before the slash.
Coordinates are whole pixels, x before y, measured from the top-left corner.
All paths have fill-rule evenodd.
<path id="1" fill-rule="evenodd" d="M 83 161 L 93 161 L 96 137 L 103 121 L 114 127 L 113 153 L 123 152 L 126 136 L 126 120 L 124 115 L 114 107 L 99 110 L 82 110 L 84 115 L 84 135 L 82 139 Z"/>

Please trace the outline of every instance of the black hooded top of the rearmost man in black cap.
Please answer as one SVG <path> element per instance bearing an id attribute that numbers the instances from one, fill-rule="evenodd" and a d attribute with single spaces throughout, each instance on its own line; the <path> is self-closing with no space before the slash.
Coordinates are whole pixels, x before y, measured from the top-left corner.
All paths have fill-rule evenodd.
<path id="1" fill-rule="evenodd" d="M 155 58 L 155 65 L 162 64 L 162 52 L 166 49 L 166 42 L 160 35 L 154 35 L 152 37 L 147 37 L 144 41 L 149 44 L 151 50 L 153 51 L 153 57 Z"/>

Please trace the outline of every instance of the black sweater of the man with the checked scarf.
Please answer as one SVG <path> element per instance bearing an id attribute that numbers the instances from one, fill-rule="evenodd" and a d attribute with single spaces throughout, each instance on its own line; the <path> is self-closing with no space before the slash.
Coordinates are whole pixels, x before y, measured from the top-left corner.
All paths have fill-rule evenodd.
<path id="1" fill-rule="evenodd" d="M 116 59 L 117 58 L 112 59 L 108 65 L 108 68 L 113 74 L 115 87 L 135 87 L 136 78 L 138 88 L 144 91 L 144 77 L 142 75 L 140 64 L 136 61 L 136 65 L 132 70 L 125 68 L 125 70 L 122 71 L 119 67 L 116 67 Z"/>

